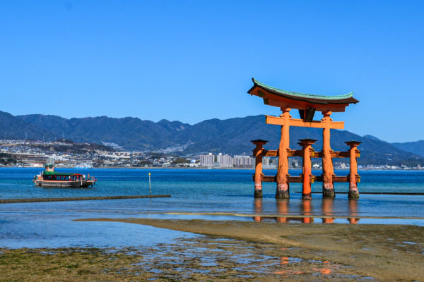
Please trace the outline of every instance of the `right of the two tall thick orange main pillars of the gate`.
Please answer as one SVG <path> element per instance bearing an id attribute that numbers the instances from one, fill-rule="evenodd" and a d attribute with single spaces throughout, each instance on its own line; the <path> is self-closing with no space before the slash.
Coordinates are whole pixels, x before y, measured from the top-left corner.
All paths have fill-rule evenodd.
<path id="1" fill-rule="evenodd" d="M 321 119 L 325 124 L 322 130 L 322 197 L 334 197 L 334 183 L 333 183 L 333 160 L 331 159 L 330 147 L 330 128 L 331 111 L 323 111 L 324 118 Z"/>

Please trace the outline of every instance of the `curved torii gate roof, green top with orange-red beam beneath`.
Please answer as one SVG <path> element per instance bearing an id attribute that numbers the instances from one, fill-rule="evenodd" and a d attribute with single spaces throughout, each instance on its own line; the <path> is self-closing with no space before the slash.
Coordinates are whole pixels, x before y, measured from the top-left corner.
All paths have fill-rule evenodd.
<path id="1" fill-rule="evenodd" d="M 353 98 L 353 92 L 337 95 L 324 96 L 314 94 L 304 94 L 290 92 L 265 85 L 252 78 L 254 85 L 247 93 L 264 99 L 264 104 L 278 107 L 288 107 L 291 109 L 316 109 L 317 111 L 345 111 L 349 104 L 356 104 L 359 101 Z"/>

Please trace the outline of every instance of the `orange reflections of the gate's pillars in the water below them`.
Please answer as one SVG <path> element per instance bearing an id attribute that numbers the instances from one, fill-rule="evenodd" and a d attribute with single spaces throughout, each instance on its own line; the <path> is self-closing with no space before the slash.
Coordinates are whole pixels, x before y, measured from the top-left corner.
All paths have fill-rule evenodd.
<path id="1" fill-rule="evenodd" d="M 317 202 L 314 202 L 317 204 Z M 318 207 L 319 208 L 319 207 Z M 321 218 L 322 223 L 334 223 L 336 216 L 334 214 L 334 198 L 323 198 L 321 206 L 321 214 L 317 214 L 317 210 L 313 212 L 312 200 L 301 200 L 299 205 L 295 205 L 293 210 L 293 204 L 290 212 L 290 200 L 280 199 L 276 200 L 276 212 L 278 216 L 274 217 L 278 223 L 288 222 L 302 222 L 302 223 L 313 223 L 314 218 Z M 263 200 L 262 198 L 254 199 L 254 221 L 263 221 L 264 219 L 270 219 L 270 216 L 264 216 Z M 300 216 L 290 216 L 290 214 L 300 214 Z M 352 224 L 356 224 L 359 221 L 358 218 L 358 200 L 350 199 L 348 201 L 348 214 L 347 221 Z M 339 221 L 340 222 L 340 221 Z"/>

